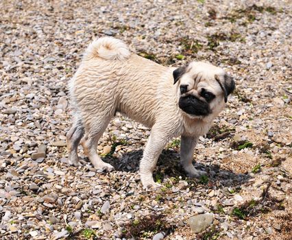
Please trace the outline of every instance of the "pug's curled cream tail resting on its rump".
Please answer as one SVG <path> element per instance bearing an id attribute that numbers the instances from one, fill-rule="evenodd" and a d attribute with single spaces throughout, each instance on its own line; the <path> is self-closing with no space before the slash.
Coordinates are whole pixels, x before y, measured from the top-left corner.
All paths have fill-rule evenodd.
<path id="1" fill-rule="evenodd" d="M 125 60 L 131 55 L 125 43 L 117 38 L 104 37 L 94 40 L 86 49 L 84 58 L 102 58 L 104 60 Z"/>

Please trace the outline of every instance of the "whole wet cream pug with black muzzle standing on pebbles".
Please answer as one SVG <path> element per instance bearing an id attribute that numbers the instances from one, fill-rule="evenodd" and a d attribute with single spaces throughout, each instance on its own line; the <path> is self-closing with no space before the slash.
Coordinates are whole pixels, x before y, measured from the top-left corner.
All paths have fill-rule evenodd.
<path id="1" fill-rule="evenodd" d="M 178 69 L 132 53 L 121 40 L 104 37 L 86 49 L 69 82 L 73 126 L 66 134 L 69 163 L 80 165 L 77 146 L 95 169 L 112 171 L 97 154 L 98 141 L 116 112 L 151 128 L 140 163 L 143 187 L 158 187 L 152 173 L 162 149 L 181 136 L 180 163 L 191 177 L 205 174 L 193 166 L 199 136 L 226 106 L 234 90 L 232 77 L 206 62 Z"/>

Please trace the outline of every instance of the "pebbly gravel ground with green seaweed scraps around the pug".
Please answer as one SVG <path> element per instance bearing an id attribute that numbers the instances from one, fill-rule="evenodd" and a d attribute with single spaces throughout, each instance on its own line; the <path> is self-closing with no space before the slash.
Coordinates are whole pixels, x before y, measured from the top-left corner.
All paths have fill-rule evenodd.
<path id="1" fill-rule="evenodd" d="M 288 0 L 2 0 L 1 239 L 291 239 L 291 10 Z M 66 84 L 105 35 L 160 64 L 205 60 L 234 76 L 195 150 L 208 176 L 186 178 L 175 139 L 155 171 L 162 188 L 143 190 L 149 129 L 121 116 L 97 149 L 116 171 L 69 167 Z"/>

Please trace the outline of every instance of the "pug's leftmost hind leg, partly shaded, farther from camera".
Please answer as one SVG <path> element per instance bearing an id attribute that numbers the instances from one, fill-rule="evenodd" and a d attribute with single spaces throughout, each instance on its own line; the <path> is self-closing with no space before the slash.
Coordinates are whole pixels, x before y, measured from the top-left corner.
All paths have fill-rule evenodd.
<path id="1" fill-rule="evenodd" d="M 75 119 L 72 128 L 67 132 L 67 149 L 69 154 L 69 164 L 75 167 L 79 166 L 77 147 L 80 140 L 84 136 L 84 127 L 82 125 L 81 119 Z"/>

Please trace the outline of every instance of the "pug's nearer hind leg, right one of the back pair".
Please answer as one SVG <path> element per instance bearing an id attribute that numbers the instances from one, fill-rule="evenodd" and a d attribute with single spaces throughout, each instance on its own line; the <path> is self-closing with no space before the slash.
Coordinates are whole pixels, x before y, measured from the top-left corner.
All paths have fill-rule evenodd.
<path id="1" fill-rule="evenodd" d="M 100 114 L 101 115 L 101 114 Z M 95 169 L 100 171 L 112 171 L 114 167 L 108 163 L 104 163 L 103 160 L 97 154 L 97 144 L 106 130 L 108 123 L 112 116 L 97 117 L 97 119 L 91 119 L 89 128 L 86 128 L 85 136 L 82 139 L 82 146 L 84 154 L 88 156 L 90 163 L 93 164 Z"/>

